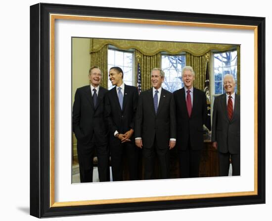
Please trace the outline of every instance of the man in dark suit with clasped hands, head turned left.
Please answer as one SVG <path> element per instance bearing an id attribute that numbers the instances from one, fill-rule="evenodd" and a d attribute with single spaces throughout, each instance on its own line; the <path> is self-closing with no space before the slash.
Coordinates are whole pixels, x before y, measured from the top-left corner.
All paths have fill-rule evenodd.
<path id="1" fill-rule="evenodd" d="M 109 70 L 109 79 L 115 87 L 105 95 L 113 181 L 123 181 L 124 159 L 128 160 L 129 179 L 138 180 L 138 149 L 134 142 L 134 123 L 139 95 L 136 87 L 123 82 L 123 76 L 124 73 L 119 67 Z"/>

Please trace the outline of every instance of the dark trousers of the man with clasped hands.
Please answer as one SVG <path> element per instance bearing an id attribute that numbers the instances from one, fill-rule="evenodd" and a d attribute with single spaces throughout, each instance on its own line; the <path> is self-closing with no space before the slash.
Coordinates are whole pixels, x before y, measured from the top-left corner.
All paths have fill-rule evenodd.
<path id="1" fill-rule="evenodd" d="M 116 138 L 118 139 L 118 138 Z M 123 181 L 124 162 L 128 161 L 130 180 L 138 180 L 139 150 L 133 142 L 114 141 L 110 145 L 112 180 Z M 113 144 L 114 143 L 114 144 Z"/>

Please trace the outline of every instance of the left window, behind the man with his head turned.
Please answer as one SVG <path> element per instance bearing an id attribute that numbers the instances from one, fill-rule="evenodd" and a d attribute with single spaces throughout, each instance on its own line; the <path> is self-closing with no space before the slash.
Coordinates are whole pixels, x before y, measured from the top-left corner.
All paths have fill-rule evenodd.
<path id="1" fill-rule="evenodd" d="M 134 85 L 133 74 L 133 52 L 108 49 L 108 70 L 111 67 L 118 66 L 124 72 L 123 81 L 125 84 Z M 111 81 L 108 79 L 108 89 L 113 88 Z"/>

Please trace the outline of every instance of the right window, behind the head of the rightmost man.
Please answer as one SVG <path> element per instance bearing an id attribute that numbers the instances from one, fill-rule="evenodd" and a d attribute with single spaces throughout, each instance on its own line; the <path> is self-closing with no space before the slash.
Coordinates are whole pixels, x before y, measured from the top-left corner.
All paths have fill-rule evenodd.
<path id="1" fill-rule="evenodd" d="M 225 92 L 223 79 L 226 74 L 232 74 L 237 81 L 237 51 L 214 53 L 214 95 Z M 235 86 L 237 92 L 237 83 Z"/>

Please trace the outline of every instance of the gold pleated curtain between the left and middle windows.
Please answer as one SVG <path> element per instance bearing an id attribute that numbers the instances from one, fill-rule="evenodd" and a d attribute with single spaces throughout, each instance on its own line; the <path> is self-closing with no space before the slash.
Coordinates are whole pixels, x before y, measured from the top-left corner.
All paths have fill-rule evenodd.
<path id="1" fill-rule="evenodd" d="M 151 87 L 151 70 L 153 68 L 161 68 L 161 53 L 159 52 L 153 56 L 148 56 L 135 50 L 135 55 L 135 67 L 137 67 L 137 62 L 139 62 L 141 70 L 141 88 L 142 91 L 145 91 Z"/>

